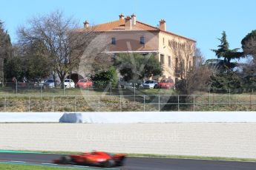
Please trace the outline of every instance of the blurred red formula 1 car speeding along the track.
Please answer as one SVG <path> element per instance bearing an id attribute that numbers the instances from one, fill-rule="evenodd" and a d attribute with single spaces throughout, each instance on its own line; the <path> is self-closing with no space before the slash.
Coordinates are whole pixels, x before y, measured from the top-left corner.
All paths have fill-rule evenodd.
<path id="1" fill-rule="evenodd" d="M 53 160 L 59 164 L 76 164 L 82 166 L 103 166 L 111 168 L 114 166 L 123 166 L 125 154 L 108 154 L 106 152 L 85 152 L 82 154 L 70 154 L 60 157 L 59 160 Z"/>

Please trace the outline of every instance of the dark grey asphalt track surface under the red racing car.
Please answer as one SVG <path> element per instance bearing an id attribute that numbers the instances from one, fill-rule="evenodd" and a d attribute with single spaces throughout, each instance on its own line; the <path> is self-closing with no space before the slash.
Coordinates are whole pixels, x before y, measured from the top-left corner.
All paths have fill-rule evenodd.
<path id="1" fill-rule="evenodd" d="M 51 166 L 53 159 L 58 159 L 61 154 L 28 154 L 28 153 L 0 153 L 0 163 L 38 164 Z M 75 166 L 82 169 L 80 166 Z M 1 169 L 1 167 L 0 167 Z M 90 168 L 91 169 L 91 168 Z M 99 169 L 99 168 L 92 168 Z M 234 162 L 221 160 L 189 160 L 168 159 L 153 157 L 128 157 L 125 166 L 116 167 L 120 170 L 255 170 L 256 163 Z"/>

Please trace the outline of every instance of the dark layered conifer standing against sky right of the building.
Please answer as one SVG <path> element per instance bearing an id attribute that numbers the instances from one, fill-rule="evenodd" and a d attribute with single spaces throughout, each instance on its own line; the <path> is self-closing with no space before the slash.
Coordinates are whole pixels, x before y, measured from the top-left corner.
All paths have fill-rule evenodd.
<path id="1" fill-rule="evenodd" d="M 212 50 L 213 52 L 215 52 L 217 58 L 223 58 L 224 63 L 226 64 L 227 67 L 232 68 L 231 64 L 231 60 L 232 59 L 240 59 L 243 56 L 242 52 L 237 52 L 239 50 L 239 48 L 235 48 L 233 50 L 229 49 L 229 42 L 226 39 L 226 32 L 223 31 L 222 33 L 222 37 L 218 38 L 218 40 L 220 40 L 220 45 L 218 45 L 217 47 L 219 47 L 217 50 Z"/>

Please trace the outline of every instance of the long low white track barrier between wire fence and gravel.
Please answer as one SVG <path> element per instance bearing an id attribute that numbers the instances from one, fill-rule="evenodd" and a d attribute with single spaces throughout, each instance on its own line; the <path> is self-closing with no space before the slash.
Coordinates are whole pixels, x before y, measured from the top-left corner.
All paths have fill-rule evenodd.
<path id="1" fill-rule="evenodd" d="M 83 123 L 256 122 L 256 112 L 79 112 Z M 0 122 L 59 122 L 64 112 L 0 112 Z"/>

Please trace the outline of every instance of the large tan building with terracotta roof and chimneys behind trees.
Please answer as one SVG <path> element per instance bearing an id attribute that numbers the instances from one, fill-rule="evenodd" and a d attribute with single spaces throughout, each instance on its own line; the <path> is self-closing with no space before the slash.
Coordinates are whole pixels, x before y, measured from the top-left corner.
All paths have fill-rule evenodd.
<path id="1" fill-rule="evenodd" d="M 154 27 L 137 20 L 131 16 L 119 15 L 116 21 L 105 24 L 89 25 L 79 31 L 92 31 L 97 33 L 105 44 L 102 52 L 117 55 L 119 53 L 140 53 L 146 55 L 153 53 L 163 67 L 161 78 L 177 80 L 180 77 L 180 64 L 191 67 L 193 64 L 194 46 L 196 41 L 177 35 L 166 30 L 165 20 L 160 20 L 159 26 Z M 183 62 L 182 62 L 183 61 Z"/>

